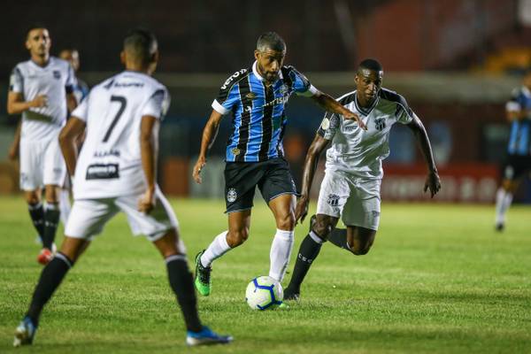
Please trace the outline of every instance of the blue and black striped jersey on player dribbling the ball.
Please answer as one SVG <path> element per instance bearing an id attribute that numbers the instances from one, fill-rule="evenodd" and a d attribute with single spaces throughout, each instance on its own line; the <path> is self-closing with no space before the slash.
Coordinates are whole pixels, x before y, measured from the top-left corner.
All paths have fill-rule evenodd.
<path id="1" fill-rule="evenodd" d="M 284 111 L 294 92 L 313 96 L 317 90 L 293 66 L 282 66 L 278 80 L 270 86 L 258 73 L 256 62 L 225 81 L 212 108 L 221 114 L 233 113 L 227 162 L 259 162 L 283 156 L 282 137 L 288 123 Z"/>

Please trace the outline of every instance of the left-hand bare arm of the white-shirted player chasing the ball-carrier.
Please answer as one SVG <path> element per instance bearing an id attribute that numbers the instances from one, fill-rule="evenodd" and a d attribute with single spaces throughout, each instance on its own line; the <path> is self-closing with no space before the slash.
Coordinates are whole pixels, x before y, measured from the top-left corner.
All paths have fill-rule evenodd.
<path id="1" fill-rule="evenodd" d="M 301 189 L 301 196 L 296 203 L 295 208 L 295 222 L 301 220 L 301 223 L 308 214 L 308 204 L 310 203 L 310 189 L 312 188 L 313 176 L 317 169 L 317 163 L 319 162 L 319 155 L 325 149 L 327 149 L 329 140 L 323 138 L 319 134 L 315 135 L 310 149 L 306 153 L 304 160 L 304 172 L 303 172 L 303 187 Z"/>

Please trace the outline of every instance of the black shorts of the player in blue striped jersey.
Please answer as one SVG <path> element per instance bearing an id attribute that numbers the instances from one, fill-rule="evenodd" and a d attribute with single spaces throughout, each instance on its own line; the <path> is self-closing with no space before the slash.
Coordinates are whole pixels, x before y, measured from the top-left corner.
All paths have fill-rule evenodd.
<path id="1" fill-rule="evenodd" d="M 225 203 L 227 213 L 252 208 L 258 186 L 267 204 L 283 194 L 296 195 L 289 164 L 283 158 L 263 162 L 227 162 L 225 165 Z"/>

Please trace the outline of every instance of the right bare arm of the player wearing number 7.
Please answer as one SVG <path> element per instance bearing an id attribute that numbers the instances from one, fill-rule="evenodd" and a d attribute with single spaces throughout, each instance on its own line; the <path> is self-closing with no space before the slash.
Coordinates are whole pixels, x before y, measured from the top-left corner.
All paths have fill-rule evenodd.
<path id="1" fill-rule="evenodd" d="M 147 188 L 138 202 L 138 211 L 149 213 L 155 206 L 155 179 L 157 171 L 158 119 L 143 116 L 140 123 L 140 156 Z"/>

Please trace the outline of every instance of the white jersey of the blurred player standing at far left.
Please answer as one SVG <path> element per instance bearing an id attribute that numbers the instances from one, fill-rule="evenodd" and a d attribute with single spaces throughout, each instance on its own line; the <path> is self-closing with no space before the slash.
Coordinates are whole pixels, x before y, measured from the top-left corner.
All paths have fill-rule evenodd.
<path id="1" fill-rule="evenodd" d="M 50 57 L 46 66 L 33 60 L 19 63 L 12 71 L 10 91 L 21 93 L 24 101 L 36 96 L 48 96 L 44 107 L 30 108 L 22 113 L 21 139 L 40 141 L 57 138 L 68 118 L 66 94 L 76 85 L 72 66 L 65 60 Z"/>

